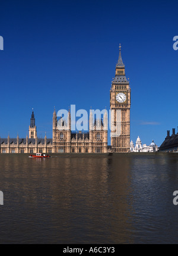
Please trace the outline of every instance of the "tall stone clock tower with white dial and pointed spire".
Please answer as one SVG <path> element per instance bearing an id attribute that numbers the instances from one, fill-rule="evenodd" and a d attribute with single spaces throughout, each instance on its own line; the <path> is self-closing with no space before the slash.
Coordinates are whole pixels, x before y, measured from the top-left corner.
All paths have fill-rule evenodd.
<path id="1" fill-rule="evenodd" d="M 129 152 L 131 89 L 125 76 L 125 65 L 121 57 L 116 64 L 115 79 L 110 89 L 111 146 L 114 152 Z"/>

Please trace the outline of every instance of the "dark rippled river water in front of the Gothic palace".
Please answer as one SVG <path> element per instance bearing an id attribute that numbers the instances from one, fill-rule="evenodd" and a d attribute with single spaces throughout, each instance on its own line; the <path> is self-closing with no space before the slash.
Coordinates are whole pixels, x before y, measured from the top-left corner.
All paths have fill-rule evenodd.
<path id="1" fill-rule="evenodd" d="M 0 163 L 0 243 L 178 241 L 178 154 L 1 154 Z"/>

